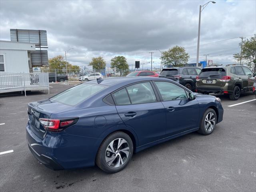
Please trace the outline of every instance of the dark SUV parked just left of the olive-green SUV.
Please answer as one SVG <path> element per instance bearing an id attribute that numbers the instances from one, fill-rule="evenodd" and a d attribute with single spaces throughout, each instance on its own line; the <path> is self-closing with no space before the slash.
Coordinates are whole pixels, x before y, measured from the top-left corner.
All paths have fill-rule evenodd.
<path id="1" fill-rule="evenodd" d="M 162 70 L 159 77 L 174 80 L 189 90 L 194 90 L 196 88 L 196 76 L 200 72 L 201 69 L 197 67 L 165 68 Z"/>

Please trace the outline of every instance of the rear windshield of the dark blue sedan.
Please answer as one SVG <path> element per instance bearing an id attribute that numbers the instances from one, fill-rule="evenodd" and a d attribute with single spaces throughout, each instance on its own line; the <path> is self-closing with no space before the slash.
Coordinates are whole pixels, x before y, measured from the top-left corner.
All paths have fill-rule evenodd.
<path id="1" fill-rule="evenodd" d="M 50 98 L 50 100 L 66 105 L 75 106 L 78 103 L 86 100 L 86 98 L 96 94 L 97 92 L 107 87 L 108 86 L 99 84 L 83 83 L 53 96 L 52 98 Z"/>

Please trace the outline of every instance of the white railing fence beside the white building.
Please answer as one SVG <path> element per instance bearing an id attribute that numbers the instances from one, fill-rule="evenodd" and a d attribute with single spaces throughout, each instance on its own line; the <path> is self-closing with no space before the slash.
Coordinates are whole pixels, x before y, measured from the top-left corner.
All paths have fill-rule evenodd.
<path id="1" fill-rule="evenodd" d="M 48 73 L 0 73 L 0 93 L 28 90 L 48 90 Z"/>

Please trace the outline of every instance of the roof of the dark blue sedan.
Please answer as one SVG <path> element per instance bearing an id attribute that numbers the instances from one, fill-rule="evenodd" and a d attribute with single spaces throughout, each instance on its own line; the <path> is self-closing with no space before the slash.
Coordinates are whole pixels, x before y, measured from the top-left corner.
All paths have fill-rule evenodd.
<path id="1" fill-rule="evenodd" d="M 125 86 L 126 84 L 132 84 L 140 81 L 149 81 L 149 80 L 168 80 L 166 78 L 159 78 L 159 77 L 150 77 L 150 76 L 143 76 L 143 77 L 110 77 L 110 78 L 104 78 L 100 79 L 100 83 L 97 82 L 97 80 L 93 80 L 86 83 L 93 83 L 93 84 L 101 84 L 106 86 L 112 86 L 114 84 L 122 84 L 122 86 Z"/>

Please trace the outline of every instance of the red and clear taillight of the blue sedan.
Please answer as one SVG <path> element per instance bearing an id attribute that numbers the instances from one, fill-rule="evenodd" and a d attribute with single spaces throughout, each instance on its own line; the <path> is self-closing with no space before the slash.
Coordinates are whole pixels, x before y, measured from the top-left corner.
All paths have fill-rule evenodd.
<path id="1" fill-rule="evenodd" d="M 64 128 L 67 128 L 68 126 L 71 126 L 77 122 L 78 118 L 75 119 L 68 119 L 68 120 L 62 120 L 62 119 L 45 119 L 40 118 L 40 123 L 44 126 L 45 130 L 53 131 L 53 132 L 60 132 Z"/>

